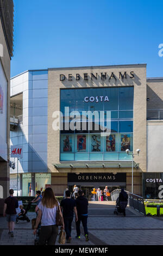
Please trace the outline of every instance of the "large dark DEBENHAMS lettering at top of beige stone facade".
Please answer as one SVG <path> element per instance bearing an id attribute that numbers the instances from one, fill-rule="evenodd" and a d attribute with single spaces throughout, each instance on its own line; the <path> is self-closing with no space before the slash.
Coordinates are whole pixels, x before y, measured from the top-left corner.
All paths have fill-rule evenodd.
<path id="1" fill-rule="evenodd" d="M 80 79 L 83 79 L 85 81 L 87 80 L 97 80 L 98 78 L 100 78 L 101 80 L 111 80 L 111 78 L 114 78 L 115 80 L 117 79 L 123 79 L 123 78 L 126 78 L 127 77 L 129 78 L 134 78 L 134 71 L 130 71 L 130 74 L 127 74 L 127 71 L 125 72 L 118 72 L 118 74 L 114 74 L 114 72 L 110 72 L 109 73 L 106 73 L 106 72 L 101 72 L 100 74 L 96 73 L 96 74 L 93 74 L 93 73 L 84 73 L 83 75 L 80 75 L 80 74 L 68 74 L 68 76 L 66 77 L 66 75 L 64 74 L 60 74 L 60 81 L 64 81 L 65 79 L 67 79 L 68 81 L 73 81 L 74 79 L 75 80 L 80 80 Z"/>

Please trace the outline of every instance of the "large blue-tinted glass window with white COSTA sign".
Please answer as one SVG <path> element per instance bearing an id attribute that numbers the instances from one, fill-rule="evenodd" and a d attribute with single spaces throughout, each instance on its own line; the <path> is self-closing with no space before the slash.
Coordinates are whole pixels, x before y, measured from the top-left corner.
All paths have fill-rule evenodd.
<path id="1" fill-rule="evenodd" d="M 60 160 L 129 160 L 133 97 L 133 87 L 61 89 Z"/>

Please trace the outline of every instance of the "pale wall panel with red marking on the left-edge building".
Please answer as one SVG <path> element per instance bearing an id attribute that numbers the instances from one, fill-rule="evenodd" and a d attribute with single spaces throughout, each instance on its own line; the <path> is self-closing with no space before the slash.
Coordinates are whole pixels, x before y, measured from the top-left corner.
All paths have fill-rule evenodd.
<path id="1" fill-rule="evenodd" d="M 7 80 L 0 62 L 0 157 L 7 156 Z"/>

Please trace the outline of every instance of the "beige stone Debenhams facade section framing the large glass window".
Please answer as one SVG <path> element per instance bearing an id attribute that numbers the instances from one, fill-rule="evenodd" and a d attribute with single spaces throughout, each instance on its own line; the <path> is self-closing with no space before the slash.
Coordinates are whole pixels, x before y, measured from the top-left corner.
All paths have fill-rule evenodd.
<path id="1" fill-rule="evenodd" d="M 110 191 L 118 187 L 131 191 L 132 161 L 126 149 L 139 148 L 134 193 L 142 194 L 146 109 L 146 64 L 49 69 L 48 167 L 55 172 L 54 191 L 63 192 L 74 184 L 87 196 L 92 187 L 106 185 Z M 61 112 L 60 130 L 55 129 L 56 111 Z M 88 111 L 98 113 L 99 120 L 98 115 L 86 115 Z"/>

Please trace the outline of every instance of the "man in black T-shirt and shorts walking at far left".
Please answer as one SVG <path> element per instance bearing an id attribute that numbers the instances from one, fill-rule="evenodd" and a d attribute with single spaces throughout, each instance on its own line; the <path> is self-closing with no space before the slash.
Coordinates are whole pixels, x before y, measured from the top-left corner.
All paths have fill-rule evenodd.
<path id="1" fill-rule="evenodd" d="M 11 235 L 11 237 L 14 237 L 14 227 L 17 216 L 16 208 L 18 208 L 18 200 L 13 196 L 14 190 L 9 190 L 9 194 L 10 196 L 4 201 L 3 216 L 7 217 L 9 229 L 8 234 Z"/>

